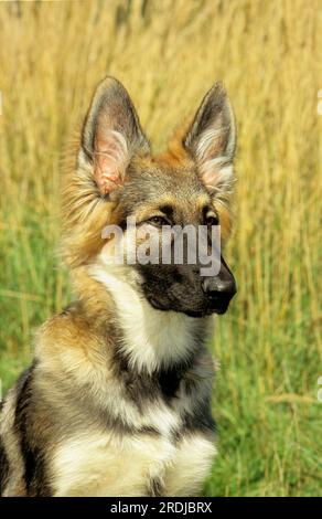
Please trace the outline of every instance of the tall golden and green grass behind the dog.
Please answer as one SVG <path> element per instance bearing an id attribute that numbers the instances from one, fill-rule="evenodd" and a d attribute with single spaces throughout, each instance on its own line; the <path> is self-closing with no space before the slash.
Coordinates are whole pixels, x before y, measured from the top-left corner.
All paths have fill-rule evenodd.
<path id="1" fill-rule="evenodd" d="M 0 4 L 4 390 L 30 360 L 34 329 L 69 298 L 55 252 L 60 161 L 94 85 L 121 80 L 155 146 L 215 80 L 228 88 L 239 293 L 212 346 L 219 454 L 207 495 L 321 494 L 319 8 L 321 20 L 321 0 Z"/>

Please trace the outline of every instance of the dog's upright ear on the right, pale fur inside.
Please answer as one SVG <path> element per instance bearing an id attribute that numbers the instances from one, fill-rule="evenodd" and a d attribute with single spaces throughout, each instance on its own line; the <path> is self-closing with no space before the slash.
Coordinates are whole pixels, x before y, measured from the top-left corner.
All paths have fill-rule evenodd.
<path id="1" fill-rule="evenodd" d="M 234 114 L 221 83 L 205 95 L 183 139 L 196 161 L 203 182 L 211 192 L 229 191 L 236 147 Z"/>

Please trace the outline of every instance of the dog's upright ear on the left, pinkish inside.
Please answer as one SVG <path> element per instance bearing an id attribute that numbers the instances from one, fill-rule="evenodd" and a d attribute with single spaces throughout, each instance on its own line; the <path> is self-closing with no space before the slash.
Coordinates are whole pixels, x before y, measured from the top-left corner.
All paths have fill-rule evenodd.
<path id="1" fill-rule="evenodd" d="M 83 128 L 82 150 L 93 165 L 101 194 L 122 186 L 133 155 L 149 151 L 130 96 L 112 77 L 104 80 L 94 94 Z"/>

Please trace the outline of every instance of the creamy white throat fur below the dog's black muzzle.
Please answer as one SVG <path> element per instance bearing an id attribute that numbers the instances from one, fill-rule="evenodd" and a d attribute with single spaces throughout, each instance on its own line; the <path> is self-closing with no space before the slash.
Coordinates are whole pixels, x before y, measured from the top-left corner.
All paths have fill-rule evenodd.
<path id="1" fill-rule="evenodd" d="M 121 352 L 136 370 L 153 373 L 189 362 L 205 342 L 211 319 L 152 308 L 121 266 L 105 265 L 98 258 L 88 274 L 111 297 Z"/>

